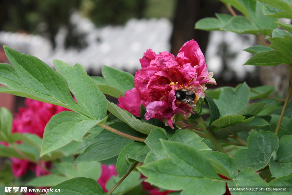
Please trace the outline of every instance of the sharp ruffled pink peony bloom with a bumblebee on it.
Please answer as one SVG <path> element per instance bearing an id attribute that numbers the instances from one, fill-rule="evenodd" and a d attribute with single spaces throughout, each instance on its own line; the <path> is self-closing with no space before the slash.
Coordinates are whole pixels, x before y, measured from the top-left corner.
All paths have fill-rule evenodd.
<path id="1" fill-rule="evenodd" d="M 197 101 L 205 97 L 205 84 L 216 84 L 196 41 L 186 42 L 174 57 L 169 52 L 155 54 L 148 49 L 140 59 L 141 70 L 135 74 L 135 88 L 119 97 L 118 106 L 140 116 L 140 104 L 146 107 L 145 119 L 156 118 L 173 127 L 177 114 L 190 117 L 193 107 L 178 101 L 175 92 L 191 89 Z"/>

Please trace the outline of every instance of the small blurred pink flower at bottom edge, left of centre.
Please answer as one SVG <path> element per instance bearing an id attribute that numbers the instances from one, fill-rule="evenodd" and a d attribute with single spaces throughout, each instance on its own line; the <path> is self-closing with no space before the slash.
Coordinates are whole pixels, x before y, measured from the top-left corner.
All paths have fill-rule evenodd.
<path id="1" fill-rule="evenodd" d="M 112 178 L 112 176 L 117 175 L 118 173 L 115 165 L 101 165 L 101 175 L 97 182 L 100 184 L 104 192 L 108 191 L 105 187 L 107 181 Z"/>

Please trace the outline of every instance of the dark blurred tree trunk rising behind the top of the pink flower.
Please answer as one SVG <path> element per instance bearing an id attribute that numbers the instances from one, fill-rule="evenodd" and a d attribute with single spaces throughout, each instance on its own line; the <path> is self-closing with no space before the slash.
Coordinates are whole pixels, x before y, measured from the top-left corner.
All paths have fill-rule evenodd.
<path id="1" fill-rule="evenodd" d="M 171 53 L 177 55 L 183 44 L 191 39 L 198 42 L 202 52 L 206 50 L 209 32 L 195 30 L 195 23 L 205 17 L 215 17 L 223 4 L 218 0 L 177 0 L 173 32 L 171 36 Z"/>

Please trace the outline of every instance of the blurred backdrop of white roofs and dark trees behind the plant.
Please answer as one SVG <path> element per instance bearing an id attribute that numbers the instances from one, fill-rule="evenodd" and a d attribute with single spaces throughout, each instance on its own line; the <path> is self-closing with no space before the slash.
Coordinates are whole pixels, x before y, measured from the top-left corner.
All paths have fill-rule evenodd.
<path id="1" fill-rule="evenodd" d="M 201 18 L 229 13 L 217 0 L 3 0 L 0 4 L 0 62 L 9 63 L 3 45 L 38 57 L 79 63 L 88 75 L 101 76 L 103 65 L 135 74 L 146 49 L 176 56 L 190 39 L 198 42 L 217 86 L 246 81 L 262 84 L 255 66 L 242 66 L 256 44 L 253 35 L 194 30 Z M 234 44 L 236 43 L 236 44 Z M 0 94 L 12 112 L 23 99 Z"/>

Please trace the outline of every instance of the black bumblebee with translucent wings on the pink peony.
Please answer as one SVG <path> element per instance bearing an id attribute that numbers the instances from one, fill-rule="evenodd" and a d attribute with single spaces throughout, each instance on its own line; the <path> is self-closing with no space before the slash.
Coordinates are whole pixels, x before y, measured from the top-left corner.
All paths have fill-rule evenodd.
<path id="1" fill-rule="evenodd" d="M 199 99 L 194 87 L 178 89 L 175 91 L 175 97 L 178 101 L 181 101 L 192 108 L 196 108 L 196 103 Z"/>

